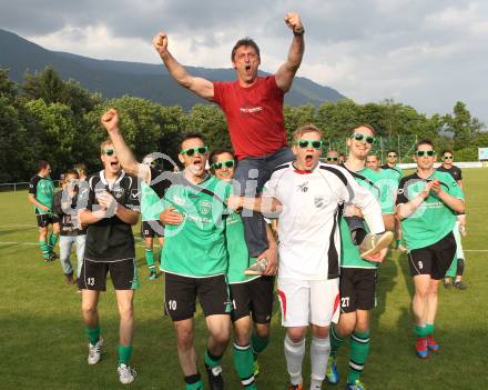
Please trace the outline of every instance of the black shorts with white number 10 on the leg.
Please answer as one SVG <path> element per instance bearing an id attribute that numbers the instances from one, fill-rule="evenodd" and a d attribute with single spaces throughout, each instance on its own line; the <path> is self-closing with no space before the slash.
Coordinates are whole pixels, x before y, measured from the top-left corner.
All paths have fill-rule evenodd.
<path id="1" fill-rule="evenodd" d="M 190 278 L 164 272 L 164 310 L 173 321 L 193 317 L 196 297 L 205 317 L 231 313 L 228 286 L 224 274 Z"/>

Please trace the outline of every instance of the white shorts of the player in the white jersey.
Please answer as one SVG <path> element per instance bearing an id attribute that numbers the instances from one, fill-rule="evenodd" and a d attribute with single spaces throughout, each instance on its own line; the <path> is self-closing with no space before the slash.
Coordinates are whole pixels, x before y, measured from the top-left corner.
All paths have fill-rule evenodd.
<path id="1" fill-rule="evenodd" d="M 278 278 L 278 299 L 282 326 L 307 327 L 313 323 L 328 327 L 339 316 L 339 278 L 331 280 L 298 280 Z"/>

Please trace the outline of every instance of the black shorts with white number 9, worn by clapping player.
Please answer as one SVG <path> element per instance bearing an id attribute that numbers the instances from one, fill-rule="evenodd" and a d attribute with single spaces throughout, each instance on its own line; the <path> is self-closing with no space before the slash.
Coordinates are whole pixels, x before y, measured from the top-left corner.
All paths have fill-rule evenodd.
<path id="1" fill-rule="evenodd" d="M 453 232 L 431 246 L 413 249 L 408 252 L 410 274 L 430 274 L 434 280 L 445 277 L 456 256 L 456 240 Z"/>

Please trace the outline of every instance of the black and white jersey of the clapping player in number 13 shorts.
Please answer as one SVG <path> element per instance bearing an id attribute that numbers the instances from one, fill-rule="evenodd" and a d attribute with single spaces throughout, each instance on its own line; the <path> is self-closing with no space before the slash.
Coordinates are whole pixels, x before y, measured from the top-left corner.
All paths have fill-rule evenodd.
<path id="1" fill-rule="evenodd" d="M 104 171 L 93 174 L 88 181 L 80 182 L 78 208 L 99 210 L 96 193 L 110 192 L 119 204 L 139 211 L 138 180 L 121 171 L 119 178 L 110 183 Z M 118 261 L 135 257 L 132 227 L 116 216 L 104 218 L 87 229 L 84 257 L 93 261 Z"/>

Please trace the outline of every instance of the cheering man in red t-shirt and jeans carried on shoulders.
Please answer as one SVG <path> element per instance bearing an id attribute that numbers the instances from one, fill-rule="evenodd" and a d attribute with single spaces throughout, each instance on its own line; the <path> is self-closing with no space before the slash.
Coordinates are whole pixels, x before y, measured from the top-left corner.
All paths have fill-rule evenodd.
<path id="1" fill-rule="evenodd" d="M 293 31 L 293 40 L 288 57 L 277 72 L 267 77 L 257 76 L 260 48 L 252 39 L 244 38 L 232 50 L 232 66 L 237 76 L 237 80 L 232 82 L 212 82 L 193 77 L 167 50 L 165 32 L 160 32 L 153 39 L 154 48 L 170 74 L 181 86 L 217 103 L 224 111 L 238 159 L 234 176 L 236 192 L 248 197 L 261 192 L 276 167 L 294 159 L 286 143 L 283 99 L 292 88 L 302 62 L 305 30 L 297 13 L 288 12 L 285 22 Z M 248 214 L 243 221 L 250 254 L 265 258 L 267 239 L 263 216 Z"/>

